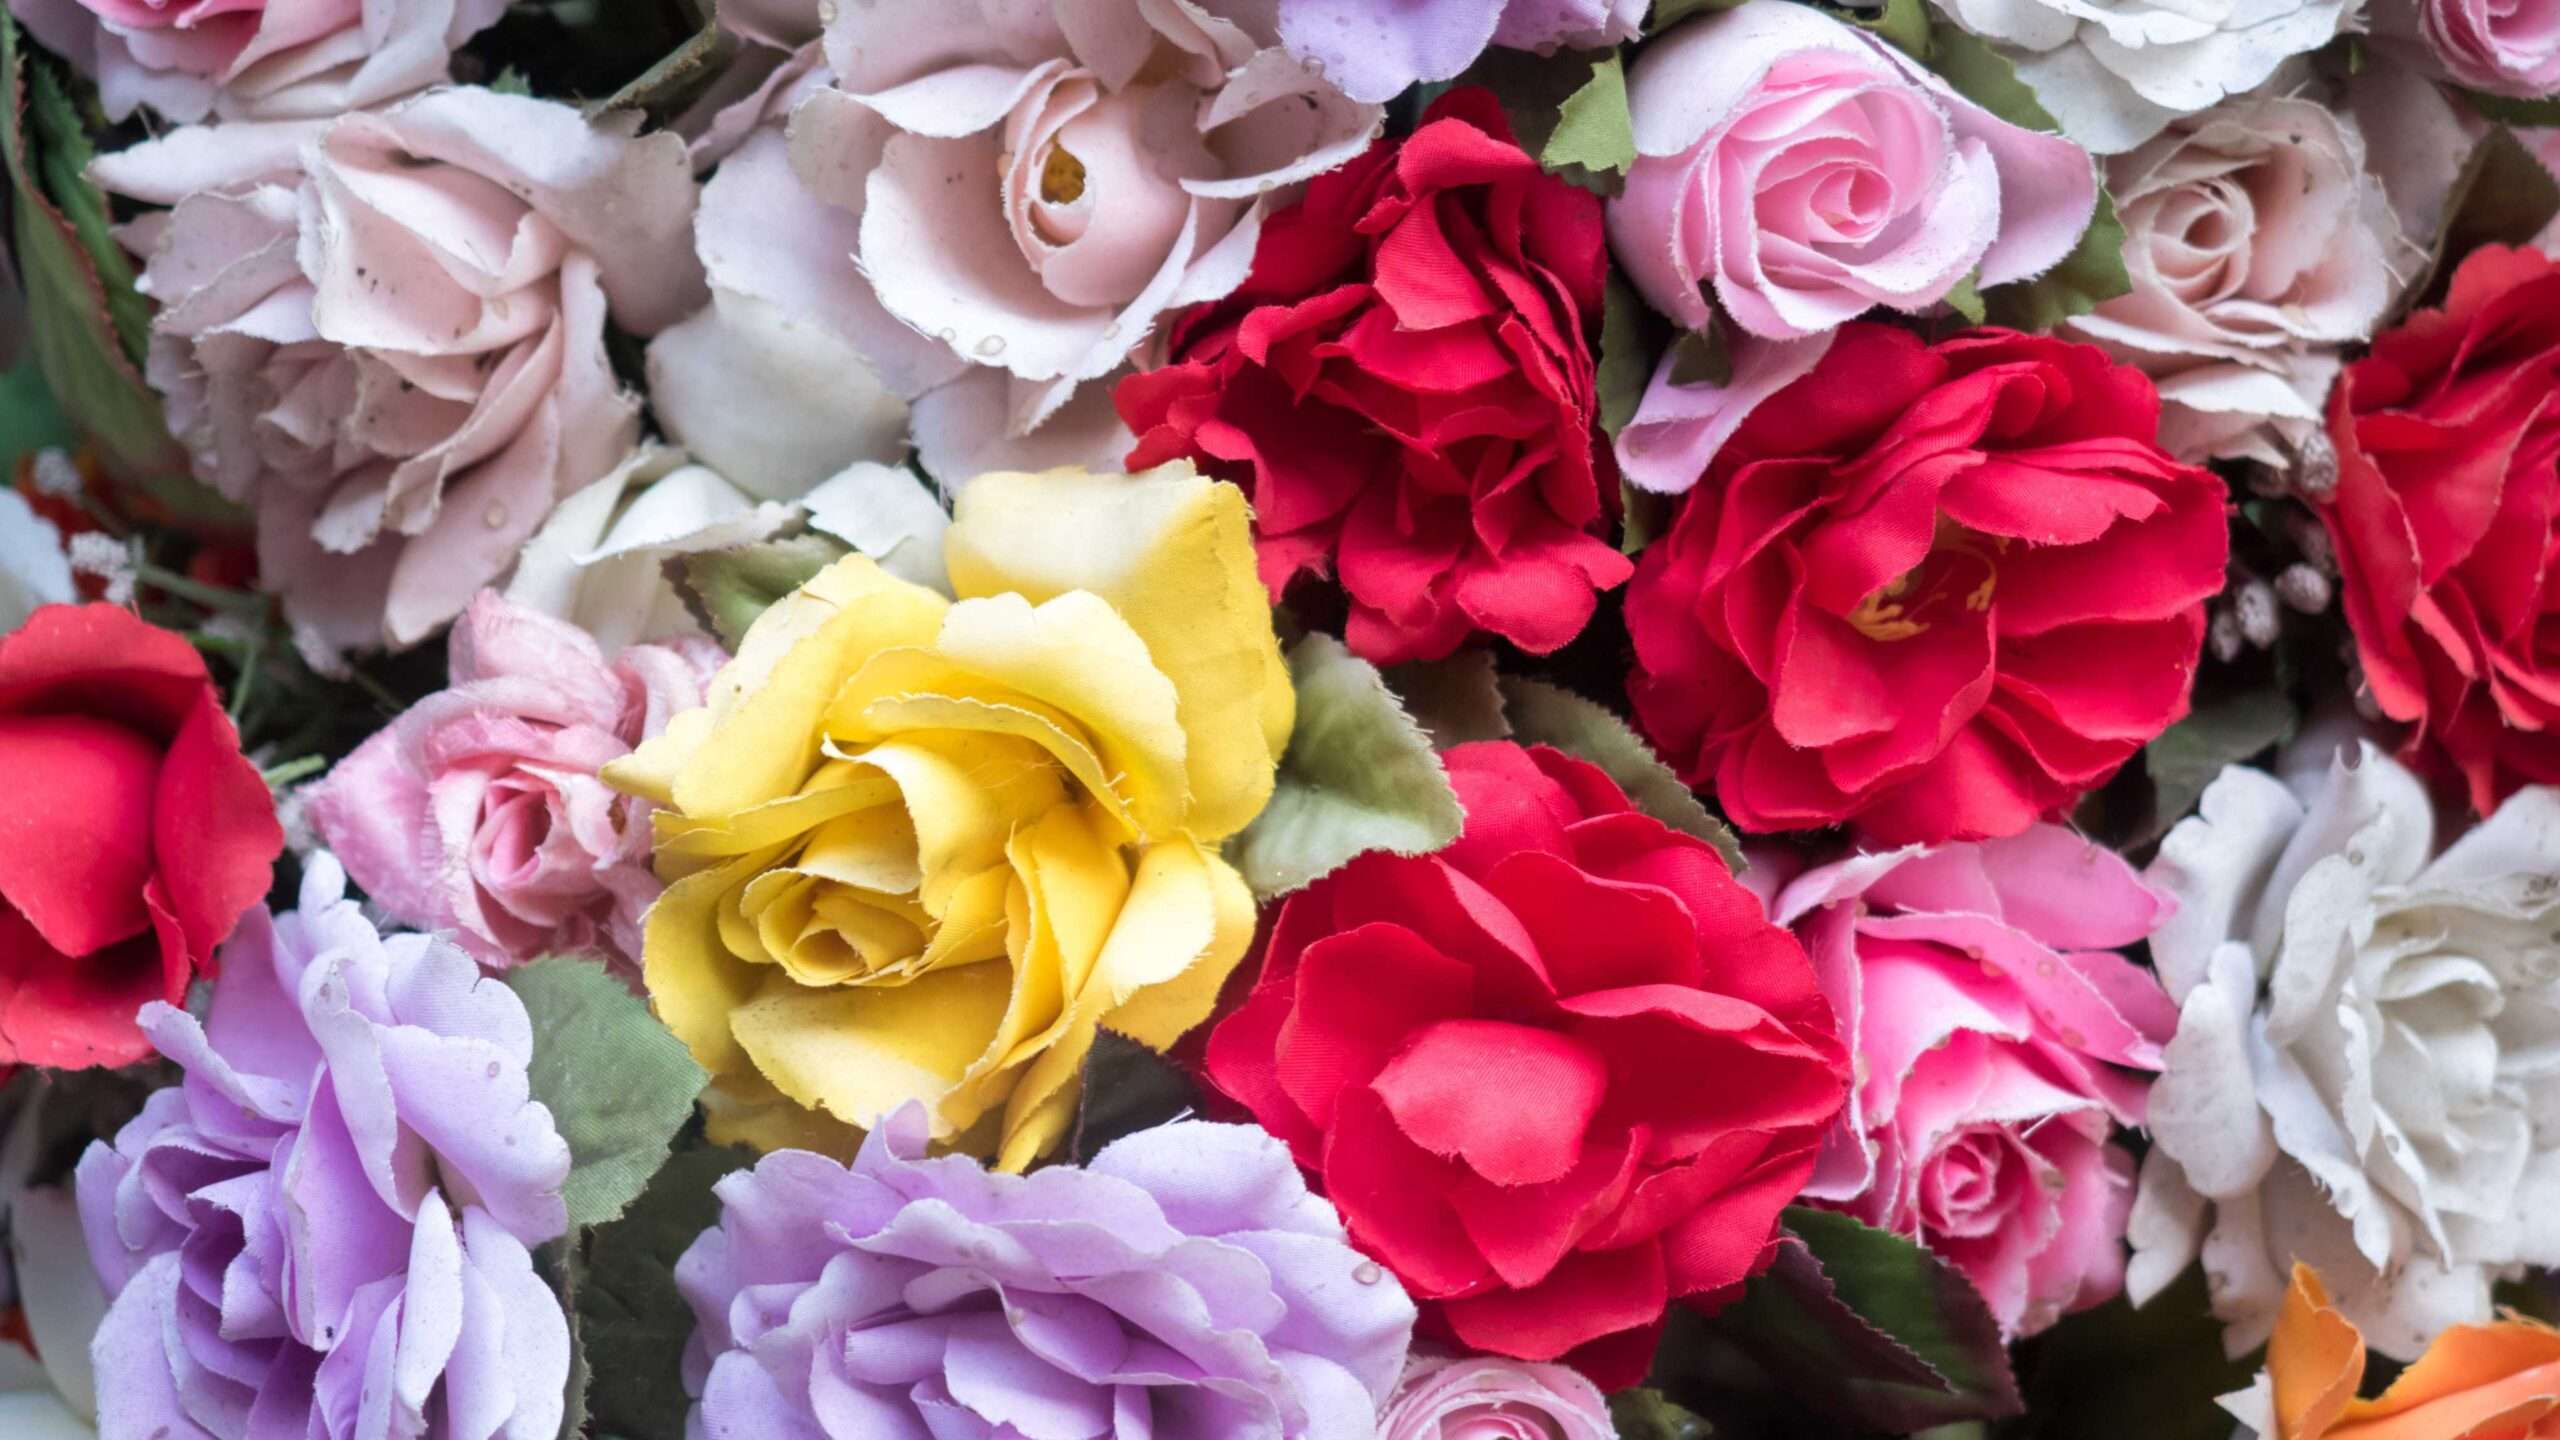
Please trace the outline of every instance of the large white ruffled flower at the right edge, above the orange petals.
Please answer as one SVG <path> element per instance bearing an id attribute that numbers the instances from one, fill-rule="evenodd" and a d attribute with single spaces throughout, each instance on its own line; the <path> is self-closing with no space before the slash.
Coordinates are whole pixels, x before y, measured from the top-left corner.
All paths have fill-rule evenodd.
<path id="1" fill-rule="evenodd" d="M 2350 761 L 2350 756 L 2355 756 Z M 2161 843 L 2150 938 L 2179 1033 L 2150 1092 L 2135 1302 L 2199 1253 L 2225 1348 L 2263 1343 L 2294 1258 L 2386 1355 L 2488 1320 L 2560 1263 L 2560 789 L 2437 853 L 2373 746 L 2294 776 L 2232 766 Z"/>

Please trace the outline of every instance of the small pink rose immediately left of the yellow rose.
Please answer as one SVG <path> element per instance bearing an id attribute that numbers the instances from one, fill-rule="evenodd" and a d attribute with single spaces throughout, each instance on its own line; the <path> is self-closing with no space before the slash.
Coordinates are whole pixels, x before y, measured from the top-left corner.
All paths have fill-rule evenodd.
<path id="1" fill-rule="evenodd" d="M 727 656 L 676 638 L 607 661 L 586 630 L 494 589 L 451 646 L 451 687 L 312 787 L 320 840 L 392 920 L 451 933 L 489 969 L 579 953 L 637 976 L 658 899 L 650 807 L 596 771 L 701 705 Z"/>

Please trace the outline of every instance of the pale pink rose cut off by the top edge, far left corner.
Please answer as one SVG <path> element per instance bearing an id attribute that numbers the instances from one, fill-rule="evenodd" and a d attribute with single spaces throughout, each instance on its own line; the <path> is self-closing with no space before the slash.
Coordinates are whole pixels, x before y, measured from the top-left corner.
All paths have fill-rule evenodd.
<path id="1" fill-rule="evenodd" d="M 440 85 L 507 0 L 10 0 L 38 41 L 138 105 L 195 123 L 307 120 Z"/>

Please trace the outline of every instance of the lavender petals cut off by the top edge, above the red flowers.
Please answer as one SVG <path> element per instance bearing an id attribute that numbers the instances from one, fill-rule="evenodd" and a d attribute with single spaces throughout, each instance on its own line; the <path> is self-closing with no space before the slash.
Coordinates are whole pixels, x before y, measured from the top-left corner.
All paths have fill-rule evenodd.
<path id="1" fill-rule="evenodd" d="M 1613 49 L 1644 28 L 1651 0 L 1277 0 L 1280 44 L 1352 100 L 1395 100 L 1449 79 L 1490 46 L 1554 54 Z"/>

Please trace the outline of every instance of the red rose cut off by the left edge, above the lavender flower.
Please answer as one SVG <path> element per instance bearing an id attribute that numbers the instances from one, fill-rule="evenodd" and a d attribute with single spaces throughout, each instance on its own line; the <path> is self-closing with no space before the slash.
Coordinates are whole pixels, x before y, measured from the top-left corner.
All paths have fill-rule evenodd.
<path id="1" fill-rule="evenodd" d="M 115 605 L 0 638 L 0 1063 L 123 1066 L 133 1012 L 274 879 L 284 830 L 202 656 Z"/>

